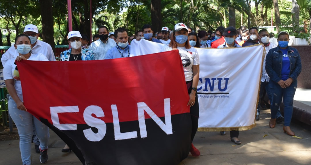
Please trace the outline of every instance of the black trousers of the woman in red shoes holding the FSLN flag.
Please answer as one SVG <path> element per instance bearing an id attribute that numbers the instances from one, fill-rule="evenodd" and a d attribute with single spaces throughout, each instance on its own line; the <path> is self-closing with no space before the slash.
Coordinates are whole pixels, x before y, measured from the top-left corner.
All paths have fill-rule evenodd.
<path id="1" fill-rule="evenodd" d="M 191 87 L 188 89 L 188 93 L 190 94 L 192 90 L 192 81 L 189 83 L 191 83 Z M 195 93 L 194 105 L 190 107 L 190 115 L 192 121 L 191 141 L 193 141 L 194 136 L 197 133 L 197 127 L 199 125 L 199 101 L 197 100 L 197 92 Z"/>

